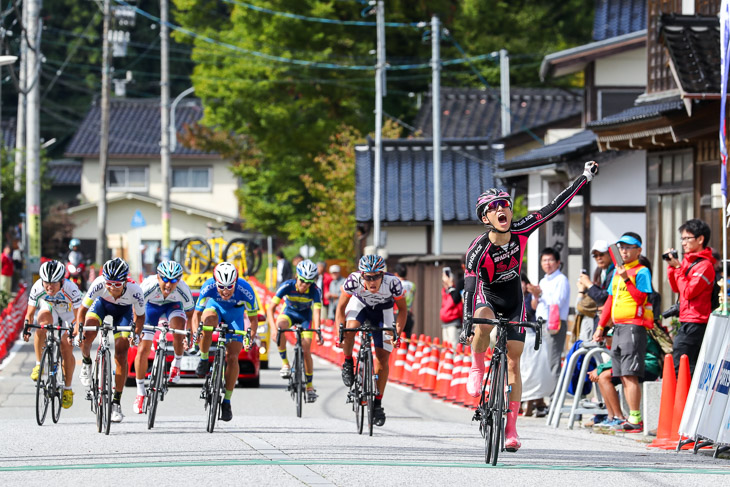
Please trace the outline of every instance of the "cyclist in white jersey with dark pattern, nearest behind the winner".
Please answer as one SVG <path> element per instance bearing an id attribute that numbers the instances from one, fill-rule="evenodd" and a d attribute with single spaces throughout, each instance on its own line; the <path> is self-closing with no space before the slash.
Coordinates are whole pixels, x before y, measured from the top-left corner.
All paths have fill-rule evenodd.
<path id="1" fill-rule="evenodd" d="M 355 299 L 351 299 L 351 298 Z M 394 318 L 393 306 L 398 309 Z M 408 305 L 403 284 L 393 274 L 385 272 L 385 260 L 378 255 L 364 255 L 358 264 L 358 272 L 350 274 L 342 285 L 342 294 L 337 302 L 336 323 L 345 323 L 347 328 L 358 328 L 369 321 L 374 327 L 396 325 L 396 336 L 384 340 L 383 332 L 373 333 L 375 345 L 374 373 L 378 377 L 378 395 L 375 396 L 373 420 L 376 426 L 385 424 L 385 409 L 382 399 L 388 383 L 388 359 L 394 344 L 406 326 Z M 346 333 L 342 342 L 345 363 L 342 364 L 342 381 L 347 387 L 355 380 L 355 363 L 352 359 L 354 333 Z"/>

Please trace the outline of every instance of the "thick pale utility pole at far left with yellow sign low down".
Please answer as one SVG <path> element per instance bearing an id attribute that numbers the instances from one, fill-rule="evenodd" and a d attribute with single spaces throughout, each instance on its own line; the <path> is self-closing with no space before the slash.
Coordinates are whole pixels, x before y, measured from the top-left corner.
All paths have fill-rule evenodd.
<path id="1" fill-rule="evenodd" d="M 26 279 L 38 272 L 41 264 L 41 0 L 28 1 L 28 70 L 26 136 L 28 158 L 25 172 L 25 218 L 28 232 Z"/>

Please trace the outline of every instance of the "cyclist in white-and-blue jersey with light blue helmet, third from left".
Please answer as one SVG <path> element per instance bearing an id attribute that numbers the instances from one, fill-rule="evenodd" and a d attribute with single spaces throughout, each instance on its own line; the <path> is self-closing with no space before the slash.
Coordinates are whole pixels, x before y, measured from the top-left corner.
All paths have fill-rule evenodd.
<path id="1" fill-rule="evenodd" d="M 184 330 L 189 318 L 192 318 L 195 301 L 190 287 L 181 281 L 182 266 L 175 261 L 167 260 L 157 266 L 157 274 L 147 276 L 142 281 L 142 292 L 145 301 L 145 324 L 157 326 L 160 318 L 167 318 L 170 328 Z M 137 375 L 137 397 L 134 400 L 134 412 L 144 412 L 144 398 L 146 395 L 145 376 L 149 354 L 155 332 L 144 331 L 137 347 L 137 357 L 134 360 Z M 173 349 L 175 359 L 170 368 L 168 380 L 172 384 L 180 382 L 180 362 L 182 361 L 184 344 L 183 336 L 173 334 Z"/>

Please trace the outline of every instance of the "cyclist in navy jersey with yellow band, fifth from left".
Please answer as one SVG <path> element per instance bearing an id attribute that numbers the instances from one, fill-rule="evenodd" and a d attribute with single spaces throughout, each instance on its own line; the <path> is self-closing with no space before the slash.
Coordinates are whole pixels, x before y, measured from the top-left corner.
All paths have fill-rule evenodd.
<path id="1" fill-rule="evenodd" d="M 276 295 L 271 298 L 271 304 L 266 308 L 266 320 L 270 329 L 286 330 L 292 325 L 301 324 L 303 330 L 312 328 L 314 331 L 302 333 L 302 352 L 304 354 L 304 375 L 307 382 L 307 402 L 317 400 L 317 391 L 314 388 L 314 364 L 312 362 L 312 334 L 319 330 L 320 310 L 322 309 L 322 291 L 314 284 L 317 278 L 317 266 L 307 259 L 297 264 L 296 279 L 284 281 Z M 284 300 L 285 306 L 279 319 L 274 320 L 274 311 L 279 303 Z M 281 356 L 282 379 L 288 379 L 291 375 L 289 359 L 286 357 L 286 339 L 284 333 L 277 333 L 276 343 L 279 346 Z M 321 344 L 321 343 L 320 343 Z"/>

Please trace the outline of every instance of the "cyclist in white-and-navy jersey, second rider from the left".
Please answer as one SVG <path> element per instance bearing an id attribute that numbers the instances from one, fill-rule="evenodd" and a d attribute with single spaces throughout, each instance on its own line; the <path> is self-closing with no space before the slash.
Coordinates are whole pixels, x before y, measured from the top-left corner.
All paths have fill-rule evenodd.
<path id="1" fill-rule="evenodd" d="M 101 326 L 104 318 L 113 318 L 114 326 L 131 326 L 134 323 L 135 333 L 139 336 L 144 326 L 144 297 L 139 284 L 129 279 L 129 265 L 120 259 L 108 260 L 104 263 L 101 275 L 94 279 L 76 315 L 76 334 L 80 326 Z M 98 331 L 85 331 L 81 342 L 81 375 L 79 379 L 85 386 L 91 384 L 91 346 Z M 112 416 L 114 423 L 124 419 L 122 414 L 122 392 L 127 380 L 127 352 L 129 351 L 129 333 L 114 333 L 114 398 L 112 400 Z"/>

